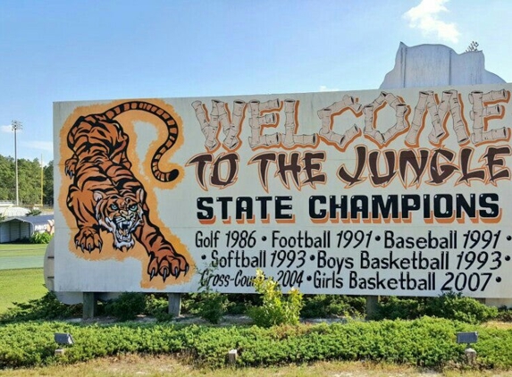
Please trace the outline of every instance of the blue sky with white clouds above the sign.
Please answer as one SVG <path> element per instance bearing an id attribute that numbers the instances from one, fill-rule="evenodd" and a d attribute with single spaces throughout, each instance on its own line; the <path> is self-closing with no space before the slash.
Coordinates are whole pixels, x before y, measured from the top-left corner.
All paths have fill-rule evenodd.
<path id="1" fill-rule="evenodd" d="M 508 0 L 0 0 L 0 155 L 53 160 L 53 103 L 379 88 L 399 43 L 472 41 L 512 82 Z"/>

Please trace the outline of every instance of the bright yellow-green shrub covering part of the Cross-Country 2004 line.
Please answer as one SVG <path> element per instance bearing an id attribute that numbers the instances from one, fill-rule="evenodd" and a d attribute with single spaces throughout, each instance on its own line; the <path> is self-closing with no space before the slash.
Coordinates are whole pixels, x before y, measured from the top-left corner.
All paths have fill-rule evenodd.
<path id="1" fill-rule="evenodd" d="M 259 269 L 256 270 L 253 282 L 256 292 L 263 298 L 262 306 L 251 306 L 248 309 L 248 316 L 256 325 L 270 327 L 298 323 L 303 306 L 303 295 L 298 289 L 290 289 L 288 299 L 284 299 L 279 283 L 272 277 L 265 279 L 264 272 Z"/>

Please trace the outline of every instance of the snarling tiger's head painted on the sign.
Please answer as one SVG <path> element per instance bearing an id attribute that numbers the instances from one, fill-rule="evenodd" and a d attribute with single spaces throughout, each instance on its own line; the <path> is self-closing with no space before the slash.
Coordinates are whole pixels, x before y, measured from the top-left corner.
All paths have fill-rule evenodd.
<path id="1" fill-rule="evenodd" d="M 134 194 L 126 192 L 122 195 L 94 192 L 96 219 L 98 224 L 113 235 L 113 247 L 130 249 L 135 244 L 133 232 L 144 222 L 142 200 L 144 192 L 138 189 Z"/>

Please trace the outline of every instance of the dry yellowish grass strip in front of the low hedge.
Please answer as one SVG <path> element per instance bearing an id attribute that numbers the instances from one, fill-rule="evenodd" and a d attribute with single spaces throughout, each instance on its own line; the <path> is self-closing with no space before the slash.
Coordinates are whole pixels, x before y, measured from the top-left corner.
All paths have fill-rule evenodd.
<path id="1" fill-rule="evenodd" d="M 303 365 L 279 365 L 259 368 L 198 369 L 176 356 L 119 355 L 72 365 L 0 370 L 1 377 L 90 376 L 187 376 L 187 377 L 505 377 L 508 371 L 446 370 L 432 371 L 408 365 L 364 362 L 317 362 Z"/>

